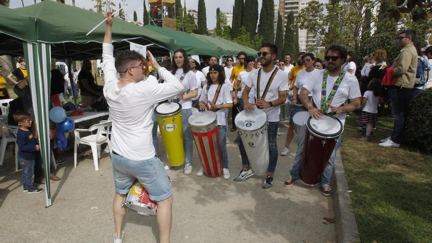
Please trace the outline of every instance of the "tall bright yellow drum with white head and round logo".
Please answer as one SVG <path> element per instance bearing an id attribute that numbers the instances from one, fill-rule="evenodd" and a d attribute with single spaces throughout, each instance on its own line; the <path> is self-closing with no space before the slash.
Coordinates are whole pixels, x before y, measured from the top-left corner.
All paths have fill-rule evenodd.
<path id="1" fill-rule="evenodd" d="M 182 106 L 177 102 L 162 103 L 155 108 L 166 157 L 171 166 L 185 162 L 181 110 Z"/>

